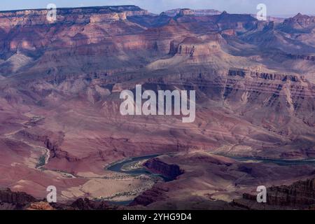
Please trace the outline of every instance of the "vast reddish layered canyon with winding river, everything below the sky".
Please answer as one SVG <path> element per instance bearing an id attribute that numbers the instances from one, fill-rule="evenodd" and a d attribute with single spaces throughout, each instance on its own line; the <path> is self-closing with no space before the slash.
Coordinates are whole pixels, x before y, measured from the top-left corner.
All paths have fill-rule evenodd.
<path id="1" fill-rule="evenodd" d="M 315 209 L 315 17 L 47 14 L 0 12 L 0 209 Z M 136 85 L 195 122 L 122 116 Z"/>

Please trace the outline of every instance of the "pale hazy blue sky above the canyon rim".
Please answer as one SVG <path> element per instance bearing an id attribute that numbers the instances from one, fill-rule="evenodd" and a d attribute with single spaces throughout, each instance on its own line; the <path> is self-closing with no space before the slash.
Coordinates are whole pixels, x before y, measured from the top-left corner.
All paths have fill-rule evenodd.
<path id="1" fill-rule="evenodd" d="M 315 0 L 1 0 L 0 10 L 57 7 L 136 5 L 152 13 L 172 8 L 217 9 L 228 13 L 256 13 L 258 3 L 265 3 L 268 15 L 315 15 Z"/>

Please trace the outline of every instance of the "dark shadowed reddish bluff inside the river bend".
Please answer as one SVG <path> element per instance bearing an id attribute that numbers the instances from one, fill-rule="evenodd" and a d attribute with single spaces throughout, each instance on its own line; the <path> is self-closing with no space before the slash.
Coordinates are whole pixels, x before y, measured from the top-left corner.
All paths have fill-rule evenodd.
<path id="1" fill-rule="evenodd" d="M 174 180 L 177 176 L 183 174 L 183 170 L 178 165 L 168 165 L 158 158 L 148 160 L 144 163 L 144 166 L 151 170 L 153 173 L 166 176 L 170 180 Z"/>

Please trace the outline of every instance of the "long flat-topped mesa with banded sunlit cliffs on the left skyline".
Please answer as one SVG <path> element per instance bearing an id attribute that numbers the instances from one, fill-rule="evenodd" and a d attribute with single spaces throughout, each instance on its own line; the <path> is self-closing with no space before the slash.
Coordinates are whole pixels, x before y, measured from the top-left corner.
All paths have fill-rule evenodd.
<path id="1" fill-rule="evenodd" d="M 3 28 L 27 25 L 48 25 L 47 9 L 11 10 L 0 12 L 0 24 Z M 55 23 L 95 23 L 127 20 L 127 16 L 146 15 L 147 10 L 137 6 L 99 6 L 84 8 L 57 8 Z"/>

